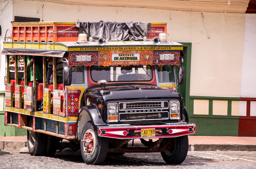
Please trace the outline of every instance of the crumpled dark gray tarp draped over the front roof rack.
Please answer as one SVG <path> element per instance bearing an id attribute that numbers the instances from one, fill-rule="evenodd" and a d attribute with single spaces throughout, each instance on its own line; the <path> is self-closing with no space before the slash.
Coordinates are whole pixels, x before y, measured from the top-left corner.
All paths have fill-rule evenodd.
<path id="1" fill-rule="evenodd" d="M 103 37 L 106 41 L 142 41 L 147 37 L 151 23 L 146 22 L 75 22 L 79 33 L 86 33 L 98 40 Z"/>

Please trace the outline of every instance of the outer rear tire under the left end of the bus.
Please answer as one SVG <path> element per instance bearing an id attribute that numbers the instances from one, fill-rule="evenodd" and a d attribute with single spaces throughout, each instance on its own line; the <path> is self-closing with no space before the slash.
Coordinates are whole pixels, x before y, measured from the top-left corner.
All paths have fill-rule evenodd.
<path id="1" fill-rule="evenodd" d="M 29 127 L 33 127 L 33 119 L 30 120 Z M 47 135 L 43 133 L 27 130 L 27 146 L 29 148 L 30 155 L 43 155 L 43 152 L 46 147 L 46 138 Z"/>

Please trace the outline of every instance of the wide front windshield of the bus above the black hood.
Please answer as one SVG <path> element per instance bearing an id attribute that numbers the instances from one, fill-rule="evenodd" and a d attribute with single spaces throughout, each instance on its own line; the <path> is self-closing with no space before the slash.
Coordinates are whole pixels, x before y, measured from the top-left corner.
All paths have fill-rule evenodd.
<path id="1" fill-rule="evenodd" d="M 93 66 L 91 67 L 93 81 L 150 81 L 153 78 L 151 66 Z"/>

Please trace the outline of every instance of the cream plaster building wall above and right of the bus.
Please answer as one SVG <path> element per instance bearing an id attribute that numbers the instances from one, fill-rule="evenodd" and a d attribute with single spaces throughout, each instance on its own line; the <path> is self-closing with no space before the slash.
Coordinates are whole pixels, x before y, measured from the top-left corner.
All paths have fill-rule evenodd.
<path id="1" fill-rule="evenodd" d="M 201 3 L 204 5 L 197 6 L 196 3 L 191 4 L 191 2 L 184 2 L 187 3 L 184 5 L 183 2 L 172 4 L 170 1 L 164 1 L 165 5 L 160 4 L 160 1 L 149 0 L 150 3 L 143 7 L 142 1 L 134 4 L 130 1 L 122 1 L 123 6 L 129 7 L 120 7 L 120 1 L 108 1 L 111 4 L 116 3 L 112 6 L 84 5 L 81 4 L 82 1 L 75 2 L 79 2 L 80 5 L 14 0 L 13 11 L 10 8 L 9 18 L 6 20 L 9 24 L 5 24 L 2 30 L 5 32 L 7 28 L 11 29 L 10 21 L 14 20 L 14 16 L 63 22 L 77 20 L 166 22 L 170 34 L 167 36 L 168 41 L 192 43 L 190 95 L 240 97 L 241 63 L 245 46 L 246 15 L 244 11 L 246 8 L 244 9 L 244 6 L 238 7 L 232 4 L 228 6 L 219 3 L 208 3 L 208 5 Z M 97 2 L 106 3 L 106 1 Z M 175 10 L 175 7 L 179 10 Z M 2 16 L 0 17 L 2 19 Z M 2 57 L 1 62 L 3 61 Z M 4 76 L 2 63 L 0 90 L 4 90 L 4 85 L 1 85 L 3 84 L 1 77 Z"/>

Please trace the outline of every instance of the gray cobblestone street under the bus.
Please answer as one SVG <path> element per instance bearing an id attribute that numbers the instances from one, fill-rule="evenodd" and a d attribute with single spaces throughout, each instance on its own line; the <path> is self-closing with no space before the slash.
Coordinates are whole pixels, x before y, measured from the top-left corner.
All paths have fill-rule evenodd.
<path id="1" fill-rule="evenodd" d="M 180 165 L 167 165 L 160 153 L 125 153 L 122 156 L 107 156 L 102 165 L 86 165 L 80 153 L 56 153 L 54 157 L 30 156 L 28 153 L 0 151 L 0 168 L 218 168 L 218 169 L 254 169 L 256 168 L 255 151 L 189 151 L 187 158 Z"/>

